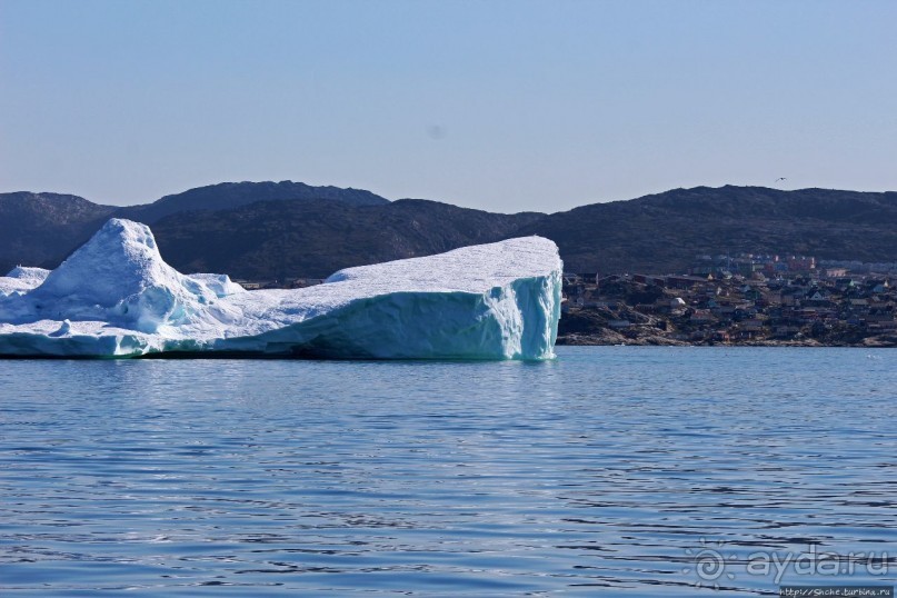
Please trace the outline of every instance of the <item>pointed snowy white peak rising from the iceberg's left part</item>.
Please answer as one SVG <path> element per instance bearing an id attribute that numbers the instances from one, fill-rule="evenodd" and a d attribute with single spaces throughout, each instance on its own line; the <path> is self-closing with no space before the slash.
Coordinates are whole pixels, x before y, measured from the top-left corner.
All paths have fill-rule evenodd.
<path id="1" fill-rule="evenodd" d="M 36 316 L 103 320 L 141 332 L 180 325 L 218 295 L 162 260 L 149 227 L 113 218 L 29 297 Z"/>

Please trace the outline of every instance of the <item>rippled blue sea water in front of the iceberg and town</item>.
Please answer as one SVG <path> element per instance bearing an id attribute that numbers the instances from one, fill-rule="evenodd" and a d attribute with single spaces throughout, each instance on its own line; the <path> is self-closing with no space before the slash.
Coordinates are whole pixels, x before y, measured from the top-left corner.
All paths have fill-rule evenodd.
<path id="1" fill-rule="evenodd" d="M 558 352 L 2 361 L 0 595 L 895 584 L 897 350 Z"/>

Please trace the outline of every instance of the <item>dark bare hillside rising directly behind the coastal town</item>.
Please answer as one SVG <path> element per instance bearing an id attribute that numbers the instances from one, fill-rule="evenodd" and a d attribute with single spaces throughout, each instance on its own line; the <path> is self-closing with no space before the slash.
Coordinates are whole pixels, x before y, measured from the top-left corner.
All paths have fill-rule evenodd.
<path id="1" fill-rule="evenodd" d="M 578 272 L 668 273 L 725 251 L 897 261 L 897 193 L 676 189 L 554 213 L 517 233 L 552 239 Z"/>

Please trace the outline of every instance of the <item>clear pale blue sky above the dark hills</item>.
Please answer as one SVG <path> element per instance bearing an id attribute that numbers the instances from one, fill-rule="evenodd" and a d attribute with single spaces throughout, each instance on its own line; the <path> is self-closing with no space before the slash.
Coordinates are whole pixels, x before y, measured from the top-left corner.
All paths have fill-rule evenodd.
<path id="1" fill-rule="evenodd" d="M 897 190 L 897 2 L 0 0 L 0 191 Z"/>

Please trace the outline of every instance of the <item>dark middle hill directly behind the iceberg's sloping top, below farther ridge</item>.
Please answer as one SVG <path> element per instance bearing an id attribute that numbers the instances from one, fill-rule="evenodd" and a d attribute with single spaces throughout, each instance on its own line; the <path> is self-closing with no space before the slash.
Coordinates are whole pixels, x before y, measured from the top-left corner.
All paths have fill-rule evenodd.
<path id="1" fill-rule="evenodd" d="M 175 215 L 152 228 L 162 256 L 181 271 L 283 280 L 509 238 L 541 216 L 416 199 L 383 206 L 269 201 Z"/>

